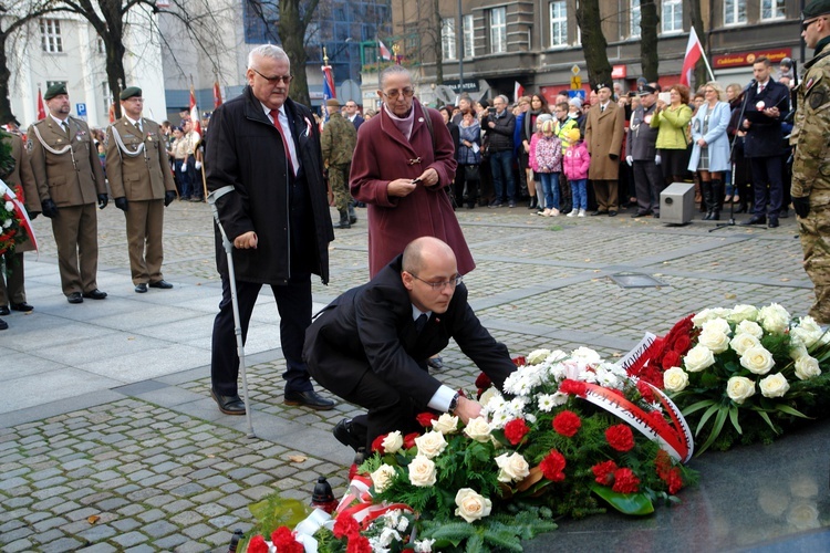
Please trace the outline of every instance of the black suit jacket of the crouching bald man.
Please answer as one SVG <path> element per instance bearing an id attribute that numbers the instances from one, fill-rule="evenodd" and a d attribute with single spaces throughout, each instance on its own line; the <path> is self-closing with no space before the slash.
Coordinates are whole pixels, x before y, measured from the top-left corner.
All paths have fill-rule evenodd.
<path id="1" fill-rule="evenodd" d="M 418 334 L 401 280 L 402 258 L 334 300 L 309 326 L 303 351 L 309 373 L 329 390 L 345 396 L 373 371 L 402 395 L 426 406 L 440 383 L 429 376 L 425 362 L 452 337 L 501 389 L 516 367 L 507 347 L 481 326 L 467 303 L 464 284 L 456 288 L 446 313 L 433 313 Z"/>

